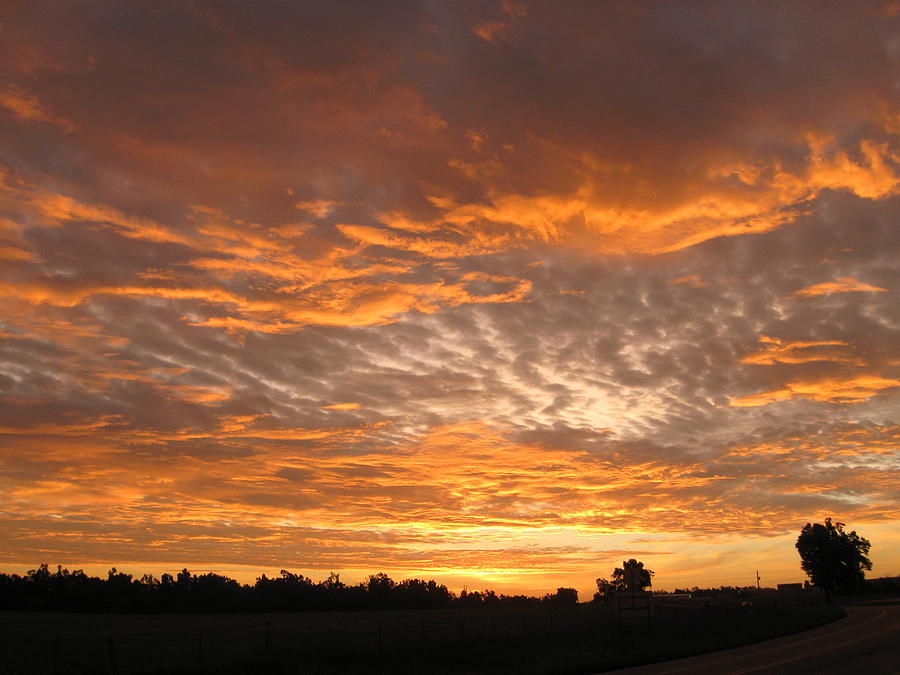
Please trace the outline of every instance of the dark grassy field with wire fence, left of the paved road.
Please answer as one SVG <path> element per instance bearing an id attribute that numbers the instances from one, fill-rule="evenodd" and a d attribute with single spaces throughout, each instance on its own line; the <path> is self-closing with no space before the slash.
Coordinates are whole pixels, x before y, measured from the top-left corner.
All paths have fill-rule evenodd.
<path id="1" fill-rule="evenodd" d="M 834 606 L 219 615 L 0 613 L 3 673 L 582 673 L 764 640 Z"/>

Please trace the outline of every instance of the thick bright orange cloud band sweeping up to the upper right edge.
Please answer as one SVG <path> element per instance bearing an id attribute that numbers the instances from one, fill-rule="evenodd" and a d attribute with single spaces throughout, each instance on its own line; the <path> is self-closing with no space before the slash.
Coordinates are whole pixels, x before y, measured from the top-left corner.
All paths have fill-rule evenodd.
<path id="1" fill-rule="evenodd" d="M 648 197 L 640 208 L 617 203 L 616 196 L 604 192 L 594 177 L 586 178 L 574 192 L 526 195 L 501 191 L 486 176 L 473 175 L 485 188 L 484 200 L 459 202 L 452 196 L 432 195 L 429 200 L 440 215 L 431 222 L 398 212 L 386 214 L 383 222 L 417 232 L 462 232 L 473 242 L 491 233 L 496 251 L 534 242 L 577 242 L 600 254 L 671 253 L 716 237 L 783 227 L 805 213 L 806 203 L 826 189 L 846 190 L 866 199 L 896 194 L 900 178 L 888 147 L 866 140 L 859 147 L 861 162 L 854 162 L 843 150 L 830 151 L 808 139 L 809 154 L 799 169 L 789 170 L 777 161 L 711 165 L 708 182 L 679 203 Z M 584 173 L 591 176 L 593 161 L 583 161 Z M 628 168 L 607 171 L 627 173 Z M 353 232 L 358 237 L 376 236 L 371 230 Z M 382 245 L 408 245 L 404 238 L 377 236 Z"/>

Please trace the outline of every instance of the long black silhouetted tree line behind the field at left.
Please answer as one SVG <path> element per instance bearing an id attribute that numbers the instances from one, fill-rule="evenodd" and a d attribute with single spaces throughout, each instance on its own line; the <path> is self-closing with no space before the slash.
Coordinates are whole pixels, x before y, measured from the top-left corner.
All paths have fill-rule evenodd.
<path id="1" fill-rule="evenodd" d="M 253 585 L 240 584 L 220 574 L 191 574 L 135 578 L 112 568 L 106 579 L 82 570 L 70 572 L 47 565 L 24 576 L 0 574 L 0 609 L 68 612 L 280 612 L 306 610 L 432 609 L 447 607 L 509 607 L 574 605 L 578 592 L 560 588 L 542 598 L 503 595 L 494 591 L 462 591 L 421 579 L 396 582 L 387 574 L 347 585 L 331 574 L 315 582 L 301 574 L 281 570 L 265 574 Z"/>

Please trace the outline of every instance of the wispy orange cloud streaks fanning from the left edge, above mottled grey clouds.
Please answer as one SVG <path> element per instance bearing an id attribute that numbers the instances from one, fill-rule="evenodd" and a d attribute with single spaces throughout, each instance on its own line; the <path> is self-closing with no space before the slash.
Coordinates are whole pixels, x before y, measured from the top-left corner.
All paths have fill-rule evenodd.
<path id="1" fill-rule="evenodd" d="M 520 302 L 530 292 L 527 280 L 505 279 L 508 290 L 480 295 L 467 288 L 467 280 L 437 281 L 414 284 L 393 280 L 349 282 L 354 279 L 385 274 L 407 274 L 408 266 L 375 263 L 359 265 L 351 259 L 360 249 L 328 247 L 318 258 L 301 258 L 294 252 L 294 244 L 284 238 L 279 228 L 274 230 L 242 221 L 232 221 L 217 209 L 194 206 L 192 220 L 195 231 L 183 235 L 148 218 L 123 214 L 117 209 L 90 205 L 71 197 L 20 186 L 6 181 L 4 195 L 11 203 L 24 206 L 52 226 L 62 222 L 93 221 L 112 226 L 124 236 L 152 243 L 177 243 L 190 250 L 210 255 L 191 260 L 191 267 L 213 272 L 219 277 L 259 275 L 267 280 L 289 281 L 265 297 L 250 297 L 219 284 L 219 278 L 194 281 L 193 287 L 53 285 L 44 282 L 2 283 L 0 293 L 35 304 L 74 307 L 97 295 L 159 297 L 172 300 L 196 301 L 227 306 L 225 316 L 200 316 L 189 319 L 193 325 L 219 326 L 231 330 L 261 332 L 290 332 L 305 325 L 361 326 L 389 323 L 400 315 L 418 311 L 433 313 L 443 307 L 460 304 Z M 346 233 L 363 240 L 366 245 L 378 243 L 373 239 L 375 228 L 344 226 Z M 291 233 L 293 234 L 293 233 Z M 406 246 L 437 257 L 464 256 L 489 250 L 472 247 L 455 249 L 441 242 L 433 244 L 385 241 L 394 248 Z M 429 249 L 433 246 L 433 250 Z M 443 247 L 443 248 L 442 248 Z M 21 258 L 25 254 L 13 257 Z M 223 257 L 224 256 L 224 257 Z M 166 279 L 167 275 L 154 271 L 139 274 L 142 279 Z"/>

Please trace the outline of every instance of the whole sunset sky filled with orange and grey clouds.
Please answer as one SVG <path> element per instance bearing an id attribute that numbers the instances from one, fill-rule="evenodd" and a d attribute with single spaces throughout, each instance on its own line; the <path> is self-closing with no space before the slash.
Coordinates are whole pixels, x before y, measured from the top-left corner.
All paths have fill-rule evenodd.
<path id="1" fill-rule="evenodd" d="M 898 20 L 0 3 L 0 568 L 900 574 Z"/>

